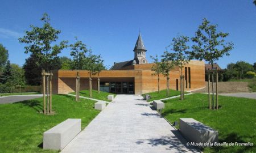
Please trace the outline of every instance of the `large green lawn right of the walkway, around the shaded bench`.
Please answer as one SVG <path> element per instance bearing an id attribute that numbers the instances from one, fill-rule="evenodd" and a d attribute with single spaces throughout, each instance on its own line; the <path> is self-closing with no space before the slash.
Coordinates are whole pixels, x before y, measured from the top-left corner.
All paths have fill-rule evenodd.
<path id="1" fill-rule="evenodd" d="M 213 147 L 204 152 L 256 152 L 256 100 L 219 96 L 220 109 L 208 109 L 208 95 L 185 96 L 184 101 L 164 101 L 162 115 L 172 124 L 179 118 L 194 118 L 219 132 L 219 142 L 251 142 L 254 146 Z M 178 126 L 176 127 L 178 128 Z"/>

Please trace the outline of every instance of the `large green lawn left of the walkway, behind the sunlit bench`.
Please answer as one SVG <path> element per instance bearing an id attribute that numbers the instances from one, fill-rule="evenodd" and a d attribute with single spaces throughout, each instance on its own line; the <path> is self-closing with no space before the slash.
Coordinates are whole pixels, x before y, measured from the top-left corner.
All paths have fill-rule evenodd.
<path id="1" fill-rule="evenodd" d="M 0 105 L 0 152 L 57 152 L 43 150 L 43 132 L 67 118 L 81 118 L 82 129 L 100 111 L 94 109 L 95 101 L 68 95 L 53 95 L 54 115 L 42 113 L 43 99 L 22 101 Z"/>

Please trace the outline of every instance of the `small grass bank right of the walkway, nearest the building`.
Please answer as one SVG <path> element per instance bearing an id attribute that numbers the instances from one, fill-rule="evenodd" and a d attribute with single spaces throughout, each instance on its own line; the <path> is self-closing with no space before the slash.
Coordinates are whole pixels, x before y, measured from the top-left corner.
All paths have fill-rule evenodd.
<path id="1" fill-rule="evenodd" d="M 185 94 L 186 93 L 187 92 L 185 92 Z M 159 99 L 164 99 L 164 98 L 167 98 L 167 97 L 180 95 L 180 91 L 170 90 L 170 96 L 166 96 L 166 90 L 161 90 L 160 93 L 158 93 L 158 91 L 150 92 L 150 93 L 147 93 L 147 94 L 143 94 L 142 96 L 144 96 L 144 95 L 150 95 L 151 98 L 148 99 L 147 101 L 153 101 L 153 100 L 159 100 Z"/>

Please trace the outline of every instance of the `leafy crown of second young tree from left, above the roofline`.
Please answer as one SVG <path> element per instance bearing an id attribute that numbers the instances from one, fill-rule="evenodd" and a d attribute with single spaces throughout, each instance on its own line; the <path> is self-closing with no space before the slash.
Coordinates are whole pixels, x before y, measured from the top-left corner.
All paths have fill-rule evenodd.
<path id="1" fill-rule="evenodd" d="M 86 53 L 90 52 L 90 50 L 86 48 L 86 45 L 82 43 L 81 40 L 77 40 L 77 37 L 75 37 L 75 39 L 75 44 L 69 45 L 69 47 L 71 48 L 70 55 L 73 57 L 73 60 L 71 62 L 71 68 L 73 70 L 82 70 L 84 67 Z"/>

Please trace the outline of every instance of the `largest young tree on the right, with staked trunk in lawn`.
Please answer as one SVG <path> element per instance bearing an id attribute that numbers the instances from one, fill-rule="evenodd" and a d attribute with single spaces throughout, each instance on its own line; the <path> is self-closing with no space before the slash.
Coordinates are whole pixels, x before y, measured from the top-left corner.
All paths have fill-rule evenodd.
<path id="1" fill-rule="evenodd" d="M 191 40 L 195 42 L 192 45 L 191 58 L 205 60 L 213 65 L 215 61 L 218 61 L 224 55 L 229 56 L 230 50 L 233 49 L 232 42 L 225 42 L 225 37 L 229 36 L 229 33 L 217 32 L 217 24 L 213 25 L 207 19 L 203 19 L 203 23 L 199 25 L 196 31 L 195 37 Z M 209 89 L 208 89 L 209 90 Z M 217 93 L 217 91 L 216 91 Z M 214 91 L 213 91 L 213 72 L 212 72 L 212 101 L 214 109 Z M 217 101 L 217 100 L 216 100 Z M 210 103 L 210 101 L 209 101 Z M 217 104 L 218 109 L 218 104 Z"/>

